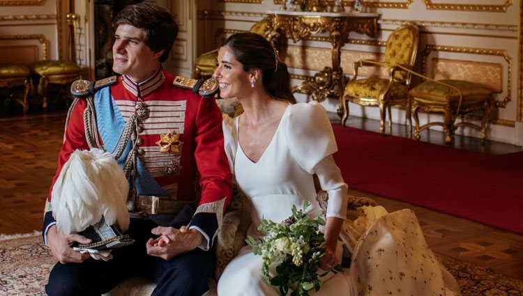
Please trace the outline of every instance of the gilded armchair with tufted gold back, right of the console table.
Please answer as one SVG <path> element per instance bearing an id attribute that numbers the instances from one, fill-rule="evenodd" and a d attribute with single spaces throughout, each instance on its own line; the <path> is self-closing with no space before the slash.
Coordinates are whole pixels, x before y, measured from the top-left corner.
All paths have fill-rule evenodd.
<path id="1" fill-rule="evenodd" d="M 392 129 L 391 107 L 402 106 L 406 119 L 411 125 L 409 86 L 411 73 L 400 68 L 412 69 L 418 51 L 419 29 L 416 24 L 407 23 L 395 29 L 388 37 L 385 47 L 385 62 L 361 60 L 354 63 L 354 77 L 345 86 L 342 95 L 342 125 L 349 117 L 349 102 L 362 106 L 379 107 L 380 130 L 385 133 L 386 111 L 389 129 Z M 364 66 L 386 67 L 388 78 L 369 77 L 358 79 L 358 68 Z"/>

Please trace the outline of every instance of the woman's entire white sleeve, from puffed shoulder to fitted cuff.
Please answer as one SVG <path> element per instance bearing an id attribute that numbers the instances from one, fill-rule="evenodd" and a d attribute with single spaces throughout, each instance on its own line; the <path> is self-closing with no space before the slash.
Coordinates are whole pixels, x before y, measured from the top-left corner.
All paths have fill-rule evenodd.
<path id="1" fill-rule="evenodd" d="M 331 122 L 318 102 L 291 106 L 286 124 L 287 145 L 302 169 L 318 176 L 328 194 L 326 217 L 347 219 L 347 184 L 334 162 L 338 151 Z"/>

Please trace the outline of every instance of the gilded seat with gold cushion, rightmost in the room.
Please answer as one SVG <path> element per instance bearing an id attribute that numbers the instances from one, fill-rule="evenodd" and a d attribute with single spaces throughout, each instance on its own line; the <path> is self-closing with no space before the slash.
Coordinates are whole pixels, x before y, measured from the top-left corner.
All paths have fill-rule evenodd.
<path id="1" fill-rule="evenodd" d="M 492 91 L 470 81 L 463 80 L 427 80 L 410 91 L 412 97 L 412 115 L 416 127 L 414 137 L 420 139 L 420 132 L 434 125 L 441 125 L 445 131 L 446 145 L 453 145 L 457 127 L 471 127 L 481 133 L 481 140 L 487 139 L 487 123 L 490 120 Z M 420 126 L 418 111 L 440 112 L 443 122 L 429 122 Z M 473 111 L 483 111 L 480 125 L 464 121 L 464 115 Z M 462 121 L 456 123 L 456 118 Z"/>

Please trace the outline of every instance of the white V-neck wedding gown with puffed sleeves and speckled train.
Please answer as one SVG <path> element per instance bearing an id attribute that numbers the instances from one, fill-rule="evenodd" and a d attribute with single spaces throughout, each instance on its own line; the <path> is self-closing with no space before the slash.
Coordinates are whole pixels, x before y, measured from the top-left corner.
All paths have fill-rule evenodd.
<path id="1" fill-rule="evenodd" d="M 347 185 L 332 157 L 338 147 L 321 105 L 289 105 L 258 162 L 245 156 L 238 143 L 238 118 L 224 116 L 223 130 L 234 181 L 252 202 L 248 235 L 259 237 L 262 219 L 282 221 L 291 215 L 292 205 L 303 208 L 304 201 L 311 204 L 310 217 L 319 215 L 314 173 L 328 192 L 326 216 L 345 219 Z M 310 295 L 459 295 L 457 283 L 427 247 L 410 210 L 388 214 L 381 207 L 367 207 L 349 231 L 356 237 L 351 267 L 329 273 L 320 290 Z M 337 253 L 341 260 L 341 247 Z M 218 295 L 279 295 L 261 276 L 261 264 L 261 256 L 243 247 L 220 276 Z"/>

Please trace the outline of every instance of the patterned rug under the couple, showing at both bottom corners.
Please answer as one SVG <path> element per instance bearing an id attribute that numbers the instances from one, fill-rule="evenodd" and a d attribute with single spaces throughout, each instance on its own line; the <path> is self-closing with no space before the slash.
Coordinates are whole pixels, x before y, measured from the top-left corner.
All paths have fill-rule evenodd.
<path id="1" fill-rule="evenodd" d="M 450 258 L 439 259 L 457 279 L 463 296 L 523 295 L 523 281 Z M 0 235 L 0 295 L 45 295 L 43 287 L 54 263 L 40 235 Z"/>

